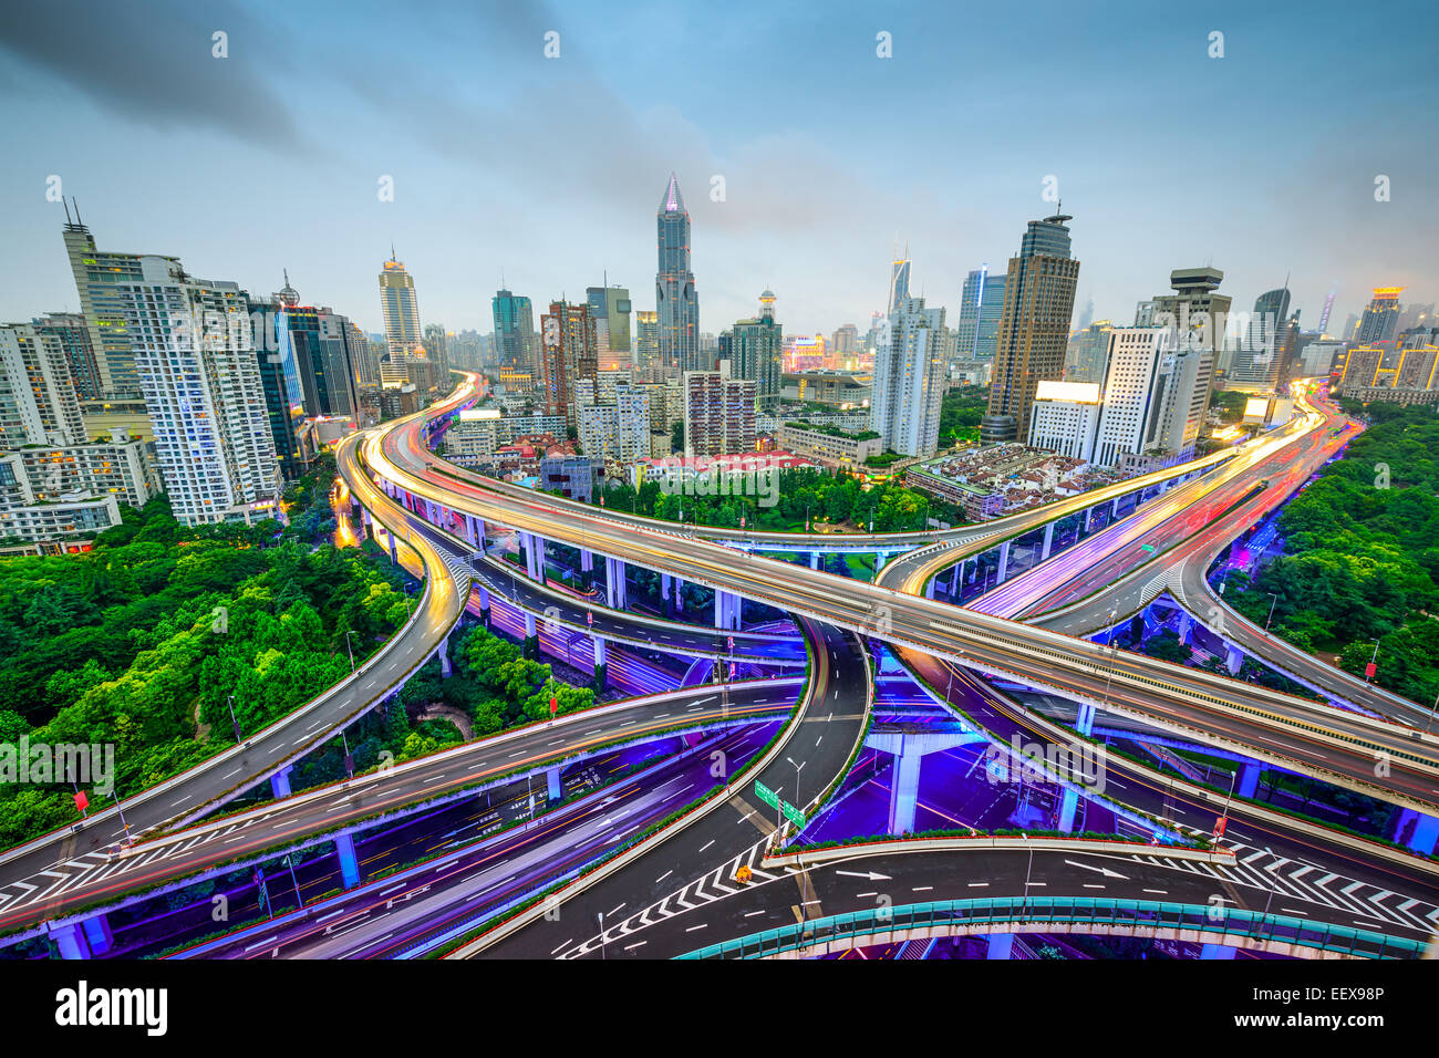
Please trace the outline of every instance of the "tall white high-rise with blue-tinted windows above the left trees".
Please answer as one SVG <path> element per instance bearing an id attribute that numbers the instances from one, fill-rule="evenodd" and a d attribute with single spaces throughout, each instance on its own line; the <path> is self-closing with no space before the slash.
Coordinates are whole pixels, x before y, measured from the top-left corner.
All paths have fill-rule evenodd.
<path id="1" fill-rule="evenodd" d="M 245 292 L 194 279 L 164 258 L 141 258 L 138 282 L 119 291 L 176 518 L 271 517 L 275 440 Z"/>

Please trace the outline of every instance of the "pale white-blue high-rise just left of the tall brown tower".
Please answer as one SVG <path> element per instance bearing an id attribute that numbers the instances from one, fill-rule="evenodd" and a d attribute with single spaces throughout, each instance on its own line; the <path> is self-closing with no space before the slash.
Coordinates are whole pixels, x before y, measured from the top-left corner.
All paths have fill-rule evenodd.
<path id="1" fill-rule="evenodd" d="M 944 397 L 944 309 L 905 298 L 889 317 L 875 351 L 869 429 L 899 455 L 928 458 L 938 449 Z"/>

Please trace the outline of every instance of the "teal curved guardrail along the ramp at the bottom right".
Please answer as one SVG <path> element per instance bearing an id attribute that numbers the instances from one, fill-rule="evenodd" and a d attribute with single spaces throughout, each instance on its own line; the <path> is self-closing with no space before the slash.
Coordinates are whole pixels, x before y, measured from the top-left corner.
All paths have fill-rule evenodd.
<path id="1" fill-rule="evenodd" d="M 1262 946 L 1328 951 L 1357 959 L 1419 959 L 1423 943 L 1384 933 L 1330 926 L 1281 914 L 1258 914 L 1204 904 L 1170 904 L 1157 900 L 1108 897 L 991 897 L 940 900 L 892 908 L 866 908 L 781 926 L 763 933 L 709 944 L 679 959 L 768 959 L 882 934 L 925 930 L 927 936 L 953 933 L 1013 933 L 1017 926 L 1111 927 L 1121 930 L 1174 930 L 1216 940 L 1249 940 Z M 1002 927 L 1002 928 L 984 928 Z M 1081 930 L 1065 928 L 1065 933 Z"/>

